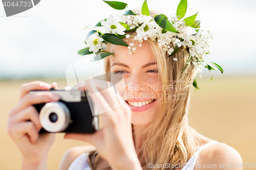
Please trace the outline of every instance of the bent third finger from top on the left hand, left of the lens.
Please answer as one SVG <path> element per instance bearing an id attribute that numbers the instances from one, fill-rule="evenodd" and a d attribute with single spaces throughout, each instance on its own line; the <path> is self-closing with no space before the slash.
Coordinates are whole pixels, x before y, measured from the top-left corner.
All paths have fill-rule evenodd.
<path id="1" fill-rule="evenodd" d="M 28 120 L 31 120 L 31 122 L 35 124 L 35 127 L 38 131 L 42 128 L 39 121 L 39 113 L 33 106 L 29 106 L 15 114 L 14 116 L 10 117 L 10 123 L 13 124 L 25 122 Z"/>

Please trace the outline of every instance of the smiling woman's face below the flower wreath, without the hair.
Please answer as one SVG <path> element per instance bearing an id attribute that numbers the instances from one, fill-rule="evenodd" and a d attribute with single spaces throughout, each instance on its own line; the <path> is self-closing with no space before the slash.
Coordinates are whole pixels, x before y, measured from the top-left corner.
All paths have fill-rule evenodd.
<path id="1" fill-rule="evenodd" d="M 148 125 L 160 106 L 160 78 L 156 60 L 147 42 L 143 41 L 141 47 L 135 43 L 135 47 L 131 55 L 127 47 L 113 45 L 111 52 L 115 53 L 115 57 L 109 56 L 110 66 L 111 72 L 121 74 L 124 78 L 127 94 L 125 103 L 132 110 L 132 124 Z"/>

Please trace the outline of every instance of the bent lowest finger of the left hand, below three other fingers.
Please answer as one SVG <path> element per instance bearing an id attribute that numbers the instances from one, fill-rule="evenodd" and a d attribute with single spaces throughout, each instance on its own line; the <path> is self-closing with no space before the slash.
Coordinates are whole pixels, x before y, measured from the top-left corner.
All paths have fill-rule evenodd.
<path id="1" fill-rule="evenodd" d="M 11 133 L 9 133 L 13 139 L 19 139 L 24 135 L 28 135 L 30 142 L 35 143 L 38 139 L 38 131 L 32 122 L 22 122 L 12 126 Z"/>

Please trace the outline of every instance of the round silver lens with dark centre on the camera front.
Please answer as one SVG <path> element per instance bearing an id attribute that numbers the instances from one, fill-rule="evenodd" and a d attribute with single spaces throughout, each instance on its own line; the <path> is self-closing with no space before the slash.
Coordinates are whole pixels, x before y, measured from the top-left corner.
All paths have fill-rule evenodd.
<path id="1" fill-rule="evenodd" d="M 47 103 L 39 113 L 39 120 L 48 132 L 65 131 L 72 122 L 70 110 L 62 102 Z"/>

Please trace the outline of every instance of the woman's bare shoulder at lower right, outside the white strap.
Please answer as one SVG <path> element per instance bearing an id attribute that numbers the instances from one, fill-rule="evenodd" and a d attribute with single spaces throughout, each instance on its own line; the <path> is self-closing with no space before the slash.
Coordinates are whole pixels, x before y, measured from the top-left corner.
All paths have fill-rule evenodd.
<path id="1" fill-rule="evenodd" d="M 229 145 L 221 142 L 203 149 L 198 155 L 196 164 L 200 164 L 201 168 L 195 167 L 195 170 L 204 168 L 203 165 L 205 165 L 205 169 L 243 169 L 240 154 Z"/>

